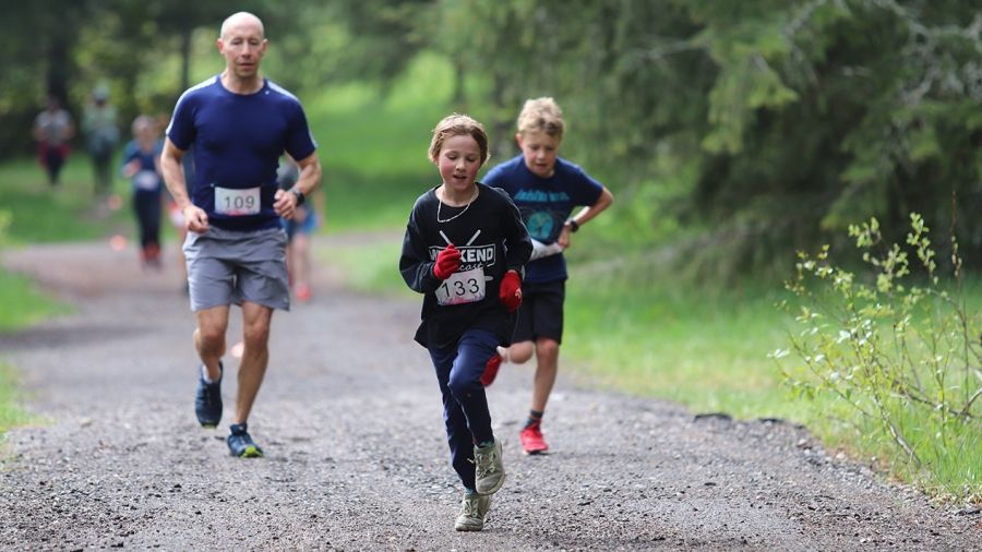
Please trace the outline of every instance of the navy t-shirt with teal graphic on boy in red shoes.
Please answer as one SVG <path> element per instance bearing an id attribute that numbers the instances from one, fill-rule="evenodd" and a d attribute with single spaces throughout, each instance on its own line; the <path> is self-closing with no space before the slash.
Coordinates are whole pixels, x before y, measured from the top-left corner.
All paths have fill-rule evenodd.
<path id="1" fill-rule="evenodd" d="M 559 239 L 574 208 L 594 205 L 603 193 L 600 182 L 562 157 L 555 159 L 552 176 L 541 178 L 528 170 L 525 158 L 518 154 L 488 171 L 481 182 L 506 191 L 518 206 L 528 235 L 546 244 Z M 562 253 L 530 261 L 525 271 L 528 283 L 558 281 L 567 277 Z"/>

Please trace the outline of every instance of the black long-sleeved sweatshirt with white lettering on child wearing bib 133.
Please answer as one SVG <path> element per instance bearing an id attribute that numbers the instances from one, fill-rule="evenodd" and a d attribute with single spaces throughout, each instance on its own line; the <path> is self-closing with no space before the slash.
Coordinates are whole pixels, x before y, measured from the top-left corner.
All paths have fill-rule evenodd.
<path id="1" fill-rule="evenodd" d="M 433 188 L 416 200 L 409 214 L 399 272 L 412 290 L 424 295 L 420 313 L 422 322 L 416 331 L 416 340 L 423 347 L 446 347 L 471 328 L 492 332 L 502 345 L 512 343 L 515 315 L 508 314 L 501 304 L 498 292 L 507 271 L 524 274 L 525 264 L 531 255 L 531 240 L 512 199 L 499 188 L 489 188 L 480 182 L 476 184 L 478 196 L 467 207 L 440 205 L 436 188 Z M 443 223 L 436 219 L 438 206 Z M 447 240 L 462 254 L 456 274 L 483 269 L 483 299 L 439 304 L 438 288 L 453 284 L 433 275 L 436 254 L 446 248 Z M 471 286 L 474 281 L 465 285 Z"/>

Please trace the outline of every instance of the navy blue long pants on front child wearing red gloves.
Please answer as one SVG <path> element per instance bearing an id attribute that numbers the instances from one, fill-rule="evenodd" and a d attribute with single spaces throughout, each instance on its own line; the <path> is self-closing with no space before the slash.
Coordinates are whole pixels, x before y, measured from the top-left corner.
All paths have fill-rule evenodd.
<path id="1" fill-rule="evenodd" d="M 451 448 L 451 465 L 467 489 L 474 489 L 474 445 L 494 439 L 491 411 L 481 385 L 488 360 L 496 355 L 498 337 L 486 329 L 464 332 L 456 345 L 430 349 Z"/>

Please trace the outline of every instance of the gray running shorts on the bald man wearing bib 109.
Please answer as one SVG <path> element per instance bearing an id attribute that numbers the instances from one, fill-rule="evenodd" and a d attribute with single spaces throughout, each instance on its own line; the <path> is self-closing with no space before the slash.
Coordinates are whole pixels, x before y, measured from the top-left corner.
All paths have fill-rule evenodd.
<path id="1" fill-rule="evenodd" d="M 188 232 L 183 250 L 191 310 L 243 301 L 290 310 L 286 241 L 279 227 L 236 232 L 213 226 L 205 233 Z"/>

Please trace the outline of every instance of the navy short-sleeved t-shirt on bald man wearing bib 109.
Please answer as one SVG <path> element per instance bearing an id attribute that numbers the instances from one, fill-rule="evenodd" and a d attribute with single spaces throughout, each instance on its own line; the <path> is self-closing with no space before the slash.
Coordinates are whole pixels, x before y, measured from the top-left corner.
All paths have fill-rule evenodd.
<path id="1" fill-rule="evenodd" d="M 235 94 L 219 75 L 181 95 L 167 137 L 180 149 L 194 146 L 188 182 L 194 205 L 208 214 L 209 224 L 238 231 L 279 225 L 273 211 L 279 157 L 287 152 L 303 159 L 318 147 L 296 96 L 268 80 L 254 94 Z M 259 205 L 254 194 L 236 192 L 254 189 Z"/>

